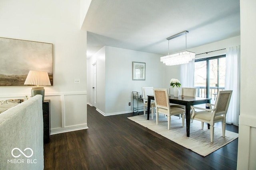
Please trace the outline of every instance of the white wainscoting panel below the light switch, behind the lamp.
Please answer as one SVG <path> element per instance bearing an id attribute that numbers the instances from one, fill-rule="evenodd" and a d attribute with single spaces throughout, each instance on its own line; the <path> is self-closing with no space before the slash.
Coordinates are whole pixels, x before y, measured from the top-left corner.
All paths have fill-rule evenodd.
<path id="1" fill-rule="evenodd" d="M 24 99 L 31 94 L 8 94 L 0 100 Z M 87 127 L 87 92 L 46 93 L 45 100 L 50 103 L 51 135 L 88 129 Z"/>

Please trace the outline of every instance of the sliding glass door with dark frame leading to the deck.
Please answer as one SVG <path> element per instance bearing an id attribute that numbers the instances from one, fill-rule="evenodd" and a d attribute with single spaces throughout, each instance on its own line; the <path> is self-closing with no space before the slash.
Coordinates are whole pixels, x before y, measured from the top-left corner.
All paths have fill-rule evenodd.
<path id="1" fill-rule="evenodd" d="M 215 102 L 219 90 L 224 90 L 226 55 L 195 61 L 194 86 L 198 97 L 211 97 Z"/>

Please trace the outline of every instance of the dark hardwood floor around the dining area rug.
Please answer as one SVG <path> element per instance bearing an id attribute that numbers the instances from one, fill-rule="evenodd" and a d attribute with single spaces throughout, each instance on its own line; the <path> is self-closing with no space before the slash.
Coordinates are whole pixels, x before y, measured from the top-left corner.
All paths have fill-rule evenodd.
<path id="1" fill-rule="evenodd" d="M 203 157 L 127 119 L 132 115 L 104 117 L 87 106 L 89 129 L 51 135 L 44 145 L 44 169 L 236 169 L 238 139 Z M 234 125 L 226 129 L 238 132 Z"/>

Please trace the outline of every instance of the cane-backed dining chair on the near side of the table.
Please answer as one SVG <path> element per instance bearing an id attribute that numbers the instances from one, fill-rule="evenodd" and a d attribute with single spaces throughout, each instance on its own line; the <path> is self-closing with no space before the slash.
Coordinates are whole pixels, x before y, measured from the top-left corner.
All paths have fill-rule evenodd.
<path id="1" fill-rule="evenodd" d="M 170 107 L 167 89 L 154 88 L 153 92 L 156 104 L 156 125 L 158 125 L 158 113 L 167 115 L 168 130 L 170 130 L 171 115 L 182 114 L 182 127 L 184 127 L 185 110 L 179 107 Z"/>

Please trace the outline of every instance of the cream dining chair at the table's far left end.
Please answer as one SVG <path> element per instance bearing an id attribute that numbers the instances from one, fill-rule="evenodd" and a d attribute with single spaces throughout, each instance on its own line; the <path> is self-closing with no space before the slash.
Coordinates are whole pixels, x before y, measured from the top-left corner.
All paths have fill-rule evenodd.
<path id="1" fill-rule="evenodd" d="M 154 95 L 153 87 L 142 87 L 142 98 L 143 98 L 143 111 L 146 116 L 146 108 L 148 107 L 148 95 Z M 150 102 L 151 117 L 154 118 L 154 108 L 156 107 L 155 102 Z"/>

